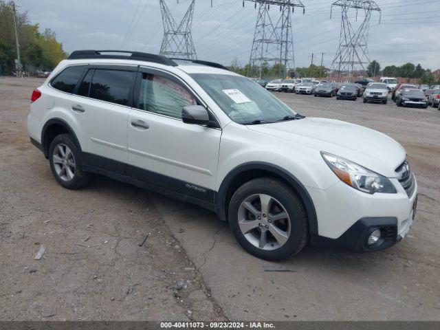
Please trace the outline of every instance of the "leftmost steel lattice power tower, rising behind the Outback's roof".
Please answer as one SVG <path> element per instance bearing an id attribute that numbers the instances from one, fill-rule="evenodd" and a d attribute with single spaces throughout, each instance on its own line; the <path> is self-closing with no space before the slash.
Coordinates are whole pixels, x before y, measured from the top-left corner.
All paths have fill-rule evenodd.
<path id="1" fill-rule="evenodd" d="M 192 0 L 184 18 L 177 25 L 171 15 L 165 0 L 159 0 L 164 25 L 164 39 L 159 54 L 173 58 L 197 59 L 194 43 L 192 42 L 191 25 L 194 14 L 195 0 Z"/>

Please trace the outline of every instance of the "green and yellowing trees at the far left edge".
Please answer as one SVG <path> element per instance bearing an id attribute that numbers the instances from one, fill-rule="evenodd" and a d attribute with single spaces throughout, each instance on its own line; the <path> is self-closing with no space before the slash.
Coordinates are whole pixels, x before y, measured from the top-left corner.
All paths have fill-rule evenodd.
<path id="1" fill-rule="evenodd" d="M 52 70 L 67 57 L 63 45 L 56 40 L 55 32 L 50 29 L 39 32 L 39 25 L 30 23 L 27 12 L 17 12 L 17 25 L 21 63 L 25 71 Z M 0 0 L 0 74 L 12 74 L 16 69 L 16 58 L 14 8 L 12 3 Z"/>

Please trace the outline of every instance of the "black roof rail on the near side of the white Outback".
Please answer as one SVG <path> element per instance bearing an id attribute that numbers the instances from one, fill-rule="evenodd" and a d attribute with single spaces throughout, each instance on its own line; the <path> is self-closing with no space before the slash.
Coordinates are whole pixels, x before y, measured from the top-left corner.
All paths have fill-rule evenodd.
<path id="1" fill-rule="evenodd" d="M 69 60 L 86 58 L 129 59 L 136 61 L 148 61 L 177 67 L 177 63 L 175 63 L 175 61 L 171 60 L 168 57 L 142 52 L 129 52 L 124 50 L 76 50 L 75 52 L 72 52 L 72 54 L 70 54 L 69 56 Z"/>

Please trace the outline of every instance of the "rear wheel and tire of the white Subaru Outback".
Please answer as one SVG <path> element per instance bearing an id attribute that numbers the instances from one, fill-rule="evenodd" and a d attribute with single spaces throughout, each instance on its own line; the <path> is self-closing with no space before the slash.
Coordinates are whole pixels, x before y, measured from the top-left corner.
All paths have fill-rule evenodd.
<path id="1" fill-rule="evenodd" d="M 83 171 L 83 157 L 72 135 L 57 135 L 49 147 L 49 164 L 58 184 L 78 189 L 89 183 L 90 175 Z"/>

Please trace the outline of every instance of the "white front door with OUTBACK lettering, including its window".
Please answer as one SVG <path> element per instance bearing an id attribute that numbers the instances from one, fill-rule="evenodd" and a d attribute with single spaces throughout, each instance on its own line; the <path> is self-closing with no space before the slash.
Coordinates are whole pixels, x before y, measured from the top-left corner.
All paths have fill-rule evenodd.
<path id="1" fill-rule="evenodd" d="M 199 98 L 176 76 L 140 68 L 134 103 L 129 114 L 127 173 L 214 201 L 221 129 L 181 120 L 182 108 L 201 104 Z"/>

